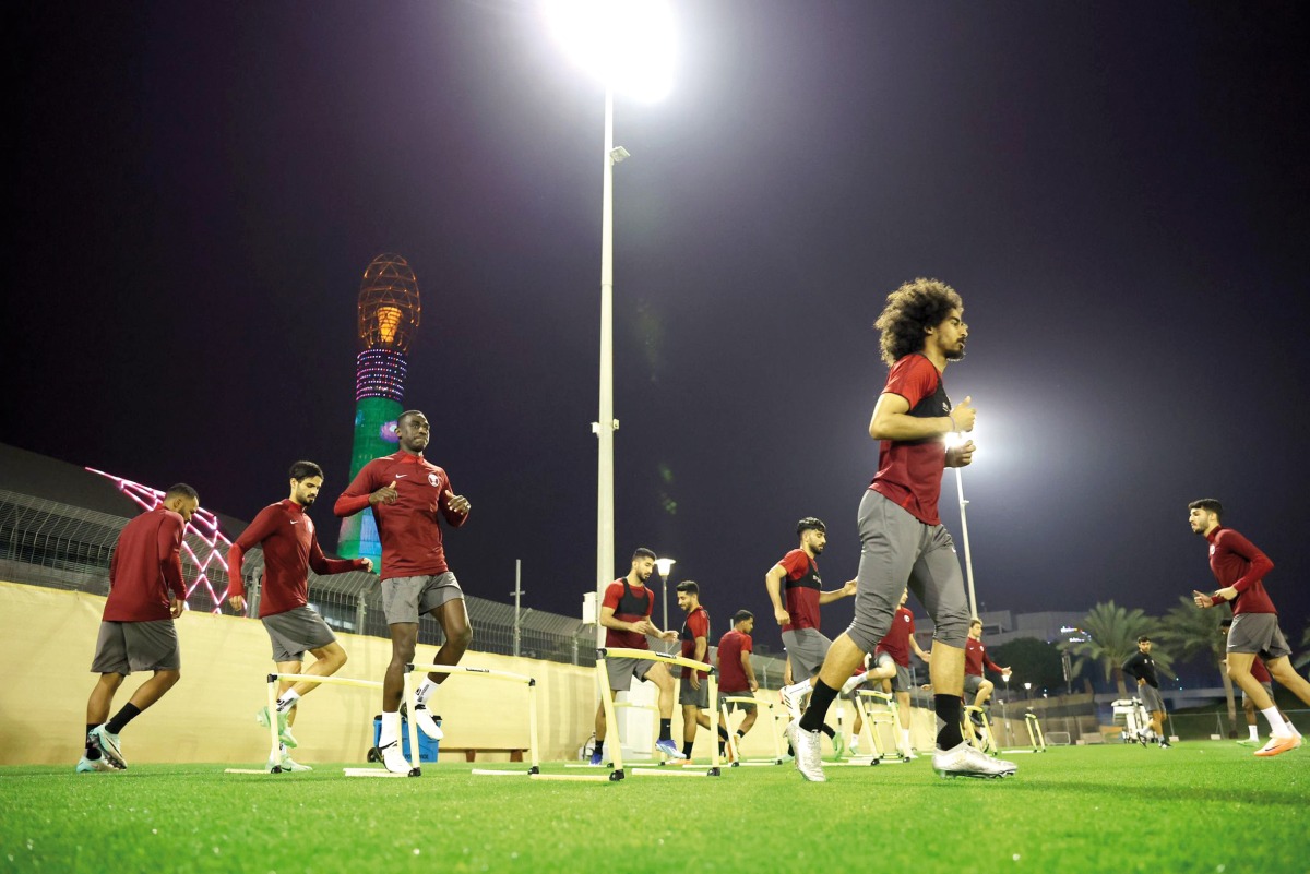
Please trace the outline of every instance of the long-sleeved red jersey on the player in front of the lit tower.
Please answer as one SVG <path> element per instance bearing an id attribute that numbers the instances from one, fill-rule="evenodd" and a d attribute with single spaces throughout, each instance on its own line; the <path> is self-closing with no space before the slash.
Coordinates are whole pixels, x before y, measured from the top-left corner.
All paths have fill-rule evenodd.
<path id="1" fill-rule="evenodd" d="M 373 506 L 383 542 L 383 580 L 445 573 L 449 567 L 439 518 L 457 529 L 469 517 L 451 509 L 445 496 L 455 492 L 451 478 L 422 455 L 398 451 L 368 462 L 337 498 L 333 512 L 342 518 L 354 516 L 368 506 L 369 495 L 390 483 L 396 483 L 396 502 Z"/>

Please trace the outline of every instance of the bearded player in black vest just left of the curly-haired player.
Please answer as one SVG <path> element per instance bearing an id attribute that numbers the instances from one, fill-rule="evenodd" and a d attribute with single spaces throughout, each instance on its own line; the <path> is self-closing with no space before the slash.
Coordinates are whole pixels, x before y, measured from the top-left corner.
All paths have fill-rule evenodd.
<path id="1" fill-rule="evenodd" d="M 812 516 L 796 522 L 800 546 L 782 556 L 778 564 L 764 574 L 764 585 L 773 602 L 773 618 L 782 627 L 782 645 L 787 649 L 794 682 L 782 687 L 782 703 L 793 718 L 800 714 L 800 703 L 814 687 L 819 666 L 832 641 L 819 631 L 819 607 L 855 594 L 855 581 L 841 589 L 823 591 L 819 563 L 828 543 L 828 529 Z M 842 678 L 845 679 L 845 678 Z M 834 738 L 832 729 L 825 729 Z"/>

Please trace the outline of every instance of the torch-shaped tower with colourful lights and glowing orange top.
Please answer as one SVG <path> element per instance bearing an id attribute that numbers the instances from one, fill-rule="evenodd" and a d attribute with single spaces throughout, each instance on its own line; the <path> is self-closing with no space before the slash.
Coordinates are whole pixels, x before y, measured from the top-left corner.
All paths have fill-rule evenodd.
<path id="1" fill-rule="evenodd" d="M 379 255 L 359 285 L 359 356 L 355 358 L 355 446 L 350 479 L 397 450 L 396 417 L 403 412 L 405 370 L 423 307 L 418 281 L 400 255 Z M 380 568 L 383 544 L 372 509 L 343 519 L 337 551 L 347 559 L 372 559 Z"/>

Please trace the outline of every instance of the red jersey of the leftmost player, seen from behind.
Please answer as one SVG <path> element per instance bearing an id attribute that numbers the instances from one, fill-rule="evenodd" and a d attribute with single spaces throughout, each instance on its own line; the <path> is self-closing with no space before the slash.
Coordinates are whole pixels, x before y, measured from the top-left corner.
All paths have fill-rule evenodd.
<path id="1" fill-rule="evenodd" d="M 182 533 L 186 522 L 162 504 L 128 522 L 109 560 L 105 621 L 172 619 L 172 598 L 186 598 Z"/>

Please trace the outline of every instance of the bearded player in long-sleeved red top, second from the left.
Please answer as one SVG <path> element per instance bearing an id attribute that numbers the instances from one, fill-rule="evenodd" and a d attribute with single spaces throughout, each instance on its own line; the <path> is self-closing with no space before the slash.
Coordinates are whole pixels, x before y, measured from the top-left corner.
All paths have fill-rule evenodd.
<path id="1" fill-rule="evenodd" d="M 373 563 L 369 559 L 329 559 L 324 555 L 318 547 L 314 521 L 305 513 L 318 498 L 324 471 L 313 462 L 296 462 L 291 466 L 290 476 L 290 497 L 259 510 L 228 550 L 228 601 L 233 608 L 245 611 L 241 561 L 255 546 L 263 547 L 259 621 L 272 641 L 272 661 L 278 663 L 278 673 L 331 676 L 346 663 L 346 650 L 337 642 L 337 636 L 322 616 L 309 606 L 309 568 L 317 574 L 328 576 L 347 570 L 372 570 Z M 305 650 L 313 653 L 314 663 L 308 671 L 301 671 Z M 283 771 L 310 771 L 309 765 L 293 760 L 287 747 L 296 746 L 291 726 L 296 721 L 297 703 L 317 686 L 310 680 L 295 684 L 286 679 L 279 682 L 280 697 L 274 718 L 278 720 L 282 748 L 278 761 L 269 759 L 270 771 L 275 765 Z M 267 727 L 269 708 L 262 708 L 255 718 Z"/>

